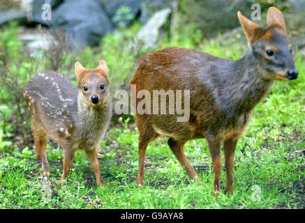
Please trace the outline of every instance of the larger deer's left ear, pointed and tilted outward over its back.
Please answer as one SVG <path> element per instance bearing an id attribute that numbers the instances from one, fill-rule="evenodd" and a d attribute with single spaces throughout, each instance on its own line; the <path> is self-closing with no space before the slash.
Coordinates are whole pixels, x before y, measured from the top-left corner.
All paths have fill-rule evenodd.
<path id="1" fill-rule="evenodd" d="M 246 18 L 240 12 L 237 13 L 237 16 L 242 28 L 244 29 L 248 43 L 252 43 L 257 38 L 257 34 L 259 33 L 258 30 L 262 30 L 262 27 Z"/>

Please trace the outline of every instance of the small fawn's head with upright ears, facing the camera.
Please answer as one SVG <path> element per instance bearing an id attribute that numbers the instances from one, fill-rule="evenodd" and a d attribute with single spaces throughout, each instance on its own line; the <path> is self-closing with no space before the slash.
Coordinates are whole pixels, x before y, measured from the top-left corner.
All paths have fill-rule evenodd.
<path id="1" fill-rule="evenodd" d="M 108 68 L 105 61 L 100 61 L 95 69 L 86 69 L 80 62 L 75 63 L 77 86 L 87 105 L 99 107 L 109 93 Z"/>

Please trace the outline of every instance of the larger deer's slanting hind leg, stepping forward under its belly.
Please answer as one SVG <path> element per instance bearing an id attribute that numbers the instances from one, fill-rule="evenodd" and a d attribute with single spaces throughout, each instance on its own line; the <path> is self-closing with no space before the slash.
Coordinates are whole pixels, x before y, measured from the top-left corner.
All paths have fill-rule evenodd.
<path id="1" fill-rule="evenodd" d="M 174 155 L 177 157 L 177 160 L 180 162 L 182 167 L 184 167 L 184 169 L 186 170 L 186 173 L 191 178 L 191 180 L 194 180 L 195 178 L 197 178 L 198 181 L 200 183 L 202 183 L 202 180 L 199 178 L 194 167 L 188 161 L 188 158 L 186 157 L 186 155 L 184 153 L 184 144 L 185 144 L 185 141 L 175 141 L 172 138 L 168 139 L 168 146 L 170 146 L 172 153 L 174 153 Z"/>

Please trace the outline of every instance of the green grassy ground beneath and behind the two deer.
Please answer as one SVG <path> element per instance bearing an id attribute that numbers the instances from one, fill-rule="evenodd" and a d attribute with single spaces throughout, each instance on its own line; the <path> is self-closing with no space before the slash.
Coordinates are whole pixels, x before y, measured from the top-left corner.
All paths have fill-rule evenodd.
<path id="1" fill-rule="evenodd" d="M 161 47 L 176 45 L 230 59 L 245 52 L 245 46 L 238 43 L 194 46 L 187 36 Z M 114 68 L 115 59 L 108 61 Z M 188 180 L 166 144 L 167 139 L 159 138 L 147 149 L 146 184 L 137 188 L 138 132 L 133 118 L 120 118 L 101 144 L 99 161 L 104 188 L 96 187 L 84 151 L 75 154 L 73 169 L 61 188 L 63 153 L 59 146 L 48 144 L 51 176 L 44 180 L 41 169 L 36 169 L 33 144 L 17 148 L 8 137 L 9 130 L 5 134 L 0 130 L 0 208 L 305 208 L 304 153 L 295 153 L 305 146 L 304 57 L 297 57 L 296 65 L 299 78 L 272 86 L 267 98 L 255 108 L 248 131 L 237 144 L 233 196 L 224 192 L 224 171 L 218 199 L 211 193 L 213 173 L 205 139 L 189 141 L 185 146 L 192 164 L 207 165 L 200 171 L 204 185 Z M 1 105 L 1 110 L 9 114 L 10 105 Z M 253 148 L 253 157 L 245 144 Z"/>

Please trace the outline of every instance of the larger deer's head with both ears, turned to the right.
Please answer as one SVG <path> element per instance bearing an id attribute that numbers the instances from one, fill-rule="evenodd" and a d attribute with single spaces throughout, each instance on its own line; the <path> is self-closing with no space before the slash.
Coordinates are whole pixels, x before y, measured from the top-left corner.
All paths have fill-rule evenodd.
<path id="1" fill-rule="evenodd" d="M 297 79 L 294 52 L 288 42 L 283 14 L 275 7 L 267 13 L 267 29 L 237 13 L 255 60 L 266 79 Z"/>

